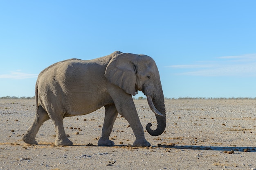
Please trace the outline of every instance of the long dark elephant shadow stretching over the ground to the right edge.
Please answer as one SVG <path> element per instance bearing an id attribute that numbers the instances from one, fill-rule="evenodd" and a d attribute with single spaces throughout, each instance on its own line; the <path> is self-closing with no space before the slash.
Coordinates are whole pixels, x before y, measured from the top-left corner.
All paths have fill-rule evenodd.
<path id="1" fill-rule="evenodd" d="M 184 146 L 160 146 L 163 148 L 176 148 L 176 149 L 189 149 L 189 150 L 220 150 L 220 151 L 231 151 L 234 150 L 235 152 L 256 152 L 255 147 L 224 147 L 224 146 L 189 146 L 189 145 L 184 145 Z"/>

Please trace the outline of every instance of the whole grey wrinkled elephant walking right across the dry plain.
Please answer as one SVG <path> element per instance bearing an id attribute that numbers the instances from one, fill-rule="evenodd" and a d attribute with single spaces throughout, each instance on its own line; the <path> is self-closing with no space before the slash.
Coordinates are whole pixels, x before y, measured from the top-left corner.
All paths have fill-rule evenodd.
<path id="1" fill-rule="evenodd" d="M 133 146 L 150 146 L 144 137 L 132 95 L 142 91 L 153 103 L 157 129 L 146 130 L 150 135 L 161 135 L 166 126 L 164 96 L 155 61 L 146 55 L 120 51 L 93 59 L 69 59 L 55 63 L 43 70 L 36 81 L 36 118 L 22 140 L 38 144 L 36 134 L 46 120 L 52 119 L 56 129 L 55 145 L 70 146 L 63 118 L 85 115 L 105 107 L 105 118 L 99 146 L 114 145 L 109 139 L 118 113 L 130 124 L 136 137 Z M 162 116 L 159 116 L 161 115 Z M 158 115 L 157 115 L 158 114 Z"/>

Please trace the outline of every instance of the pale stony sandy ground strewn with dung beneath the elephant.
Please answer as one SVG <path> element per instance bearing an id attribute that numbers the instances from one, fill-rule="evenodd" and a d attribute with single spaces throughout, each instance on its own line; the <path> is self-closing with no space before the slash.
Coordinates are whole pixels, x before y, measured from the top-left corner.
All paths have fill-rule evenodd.
<path id="1" fill-rule="evenodd" d="M 148 122 L 155 126 L 146 100 L 135 105 L 144 129 Z M 34 100 L 0 100 L 0 170 L 256 168 L 256 100 L 166 100 L 166 131 L 145 132 L 151 147 L 130 146 L 135 136 L 120 115 L 110 135 L 115 146 L 97 146 L 103 108 L 64 119 L 73 146 L 54 146 L 51 120 L 40 128 L 38 145 L 25 144 L 21 137 L 35 108 Z"/>

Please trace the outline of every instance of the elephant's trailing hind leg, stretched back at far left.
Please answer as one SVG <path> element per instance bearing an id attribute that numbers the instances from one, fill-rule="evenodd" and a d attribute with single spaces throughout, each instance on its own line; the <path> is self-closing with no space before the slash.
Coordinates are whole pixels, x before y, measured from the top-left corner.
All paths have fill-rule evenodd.
<path id="1" fill-rule="evenodd" d="M 43 107 L 39 106 L 36 114 L 36 118 L 34 119 L 33 124 L 27 129 L 25 135 L 22 137 L 22 141 L 27 144 L 38 144 L 36 142 L 36 134 L 40 126 L 43 125 L 43 122 L 49 120 L 49 116 L 47 112 L 43 109 Z"/>

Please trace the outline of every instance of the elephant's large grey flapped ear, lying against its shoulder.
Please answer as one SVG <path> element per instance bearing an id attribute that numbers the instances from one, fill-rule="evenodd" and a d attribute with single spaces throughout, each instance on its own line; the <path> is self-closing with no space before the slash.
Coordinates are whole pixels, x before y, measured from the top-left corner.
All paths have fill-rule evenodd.
<path id="1" fill-rule="evenodd" d="M 132 63 L 135 54 L 122 53 L 113 57 L 106 68 L 105 76 L 108 81 L 135 96 L 136 65 Z"/>

